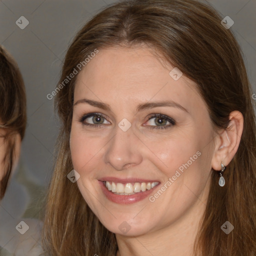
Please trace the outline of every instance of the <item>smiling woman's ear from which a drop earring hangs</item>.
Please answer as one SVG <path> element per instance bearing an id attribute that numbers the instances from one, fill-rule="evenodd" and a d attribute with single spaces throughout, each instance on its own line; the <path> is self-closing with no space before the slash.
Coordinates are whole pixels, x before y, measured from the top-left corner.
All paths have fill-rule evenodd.
<path id="1" fill-rule="evenodd" d="M 230 112 L 227 128 L 214 138 L 214 152 L 211 160 L 212 169 L 221 170 L 221 161 L 225 166 L 229 164 L 238 149 L 242 130 L 242 113 L 237 110 Z"/>

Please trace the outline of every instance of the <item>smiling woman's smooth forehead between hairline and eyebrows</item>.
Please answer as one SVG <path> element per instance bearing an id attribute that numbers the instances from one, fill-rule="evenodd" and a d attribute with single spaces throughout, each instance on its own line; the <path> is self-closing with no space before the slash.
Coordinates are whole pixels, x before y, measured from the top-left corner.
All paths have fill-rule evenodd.
<path id="1" fill-rule="evenodd" d="M 89 97 L 107 103 L 174 100 L 184 107 L 204 104 L 196 84 L 182 75 L 174 80 L 174 68 L 148 47 L 99 49 L 78 74 L 74 100 Z"/>

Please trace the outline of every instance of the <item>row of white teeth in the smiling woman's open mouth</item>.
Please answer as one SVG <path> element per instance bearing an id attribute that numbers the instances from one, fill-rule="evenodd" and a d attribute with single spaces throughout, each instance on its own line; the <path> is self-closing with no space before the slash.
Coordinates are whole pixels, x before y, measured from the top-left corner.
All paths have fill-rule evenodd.
<path id="1" fill-rule="evenodd" d="M 158 185 L 158 181 L 154 182 L 132 182 L 132 183 L 115 183 L 111 181 L 103 181 L 105 187 L 113 192 L 114 194 L 119 195 L 131 195 L 139 192 L 144 192 L 150 190 L 154 186 Z"/>

